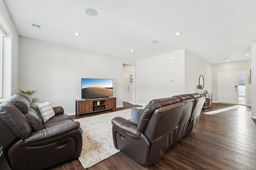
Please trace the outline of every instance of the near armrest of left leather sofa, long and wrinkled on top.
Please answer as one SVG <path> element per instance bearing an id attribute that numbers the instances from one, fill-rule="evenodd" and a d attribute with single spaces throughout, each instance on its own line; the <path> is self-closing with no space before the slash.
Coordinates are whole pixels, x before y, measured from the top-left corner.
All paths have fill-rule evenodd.
<path id="1" fill-rule="evenodd" d="M 37 143 L 46 141 L 48 139 L 54 139 L 55 137 L 64 135 L 70 131 L 74 131 L 80 127 L 80 123 L 77 121 L 66 122 L 61 125 L 56 125 L 40 131 L 35 131 L 28 139 L 24 140 L 24 143 Z"/>

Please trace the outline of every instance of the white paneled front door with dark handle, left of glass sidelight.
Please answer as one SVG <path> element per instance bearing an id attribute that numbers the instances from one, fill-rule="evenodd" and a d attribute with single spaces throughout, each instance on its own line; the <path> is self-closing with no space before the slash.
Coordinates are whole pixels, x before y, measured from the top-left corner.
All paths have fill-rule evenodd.
<path id="1" fill-rule="evenodd" d="M 238 104 L 238 72 L 218 73 L 218 102 Z"/>

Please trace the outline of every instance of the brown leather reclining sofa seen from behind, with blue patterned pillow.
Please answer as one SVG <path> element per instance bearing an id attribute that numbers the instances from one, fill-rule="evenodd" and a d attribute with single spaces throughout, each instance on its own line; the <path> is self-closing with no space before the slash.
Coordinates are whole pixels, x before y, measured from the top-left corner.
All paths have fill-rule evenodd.
<path id="1" fill-rule="evenodd" d="M 114 147 L 140 165 L 153 164 L 173 143 L 194 131 L 203 104 L 199 94 L 184 94 L 150 101 L 138 125 L 115 117 Z"/>

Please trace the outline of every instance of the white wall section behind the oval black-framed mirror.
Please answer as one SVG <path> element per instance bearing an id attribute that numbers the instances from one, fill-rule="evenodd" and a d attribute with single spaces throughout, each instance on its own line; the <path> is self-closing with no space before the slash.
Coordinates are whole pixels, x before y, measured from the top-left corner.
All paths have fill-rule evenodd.
<path id="1" fill-rule="evenodd" d="M 204 88 L 212 92 L 212 64 L 185 50 L 185 93 L 198 93 L 199 77 L 204 77 Z"/>

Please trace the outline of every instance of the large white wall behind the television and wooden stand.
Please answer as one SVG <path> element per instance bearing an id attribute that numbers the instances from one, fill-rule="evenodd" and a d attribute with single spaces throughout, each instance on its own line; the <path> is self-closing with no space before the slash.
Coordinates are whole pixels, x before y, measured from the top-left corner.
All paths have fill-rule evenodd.
<path id="1" fill-rule="evenodd" d="M 19 88 L 38 90 L 33 97 L 65 113 L 75 112 L 81 99 L 81 78 L 114 79 L 116 106 L 122 106 L 123 63 L 135 61 L 67 47 L 27 37 L 19 38 Z"/>

